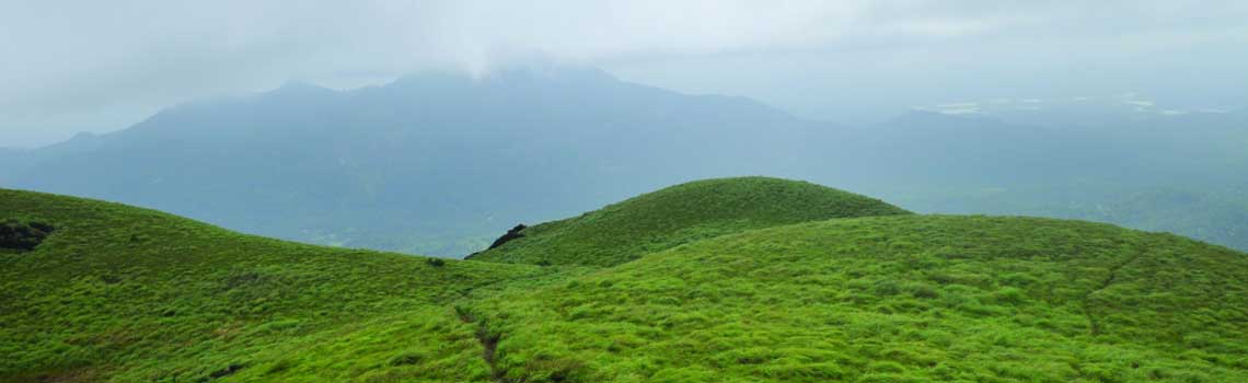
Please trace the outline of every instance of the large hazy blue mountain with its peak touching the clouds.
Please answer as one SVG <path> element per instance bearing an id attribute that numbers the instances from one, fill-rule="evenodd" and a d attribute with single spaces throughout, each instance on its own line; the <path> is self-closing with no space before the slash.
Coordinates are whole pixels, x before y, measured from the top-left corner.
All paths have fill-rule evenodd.
<path id="1" fill-rule="evenodd" d="M 37 151 L 49 158 L 11 183 L 302 241 L 467 253 L 520 220 L 784 168 L 800 161 L 785 147 L 826 126 L 593 70 L 427 74 L 172 107 L 92 150 Z"/>

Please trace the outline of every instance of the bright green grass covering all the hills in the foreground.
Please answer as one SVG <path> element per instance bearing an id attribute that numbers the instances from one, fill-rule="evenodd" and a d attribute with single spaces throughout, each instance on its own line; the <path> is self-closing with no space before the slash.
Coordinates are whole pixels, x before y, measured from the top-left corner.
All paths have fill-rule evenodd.
<path id="1" fill-rule="evenodd" d="M 791 181 L 644 195 L 504 262 L 19 191 L 0 221 L 55 227 L 0 251 L 0 382 L 1248 382 L 1244 253 Z M 567 264 L 505 263 L 539 261 Z"/>

